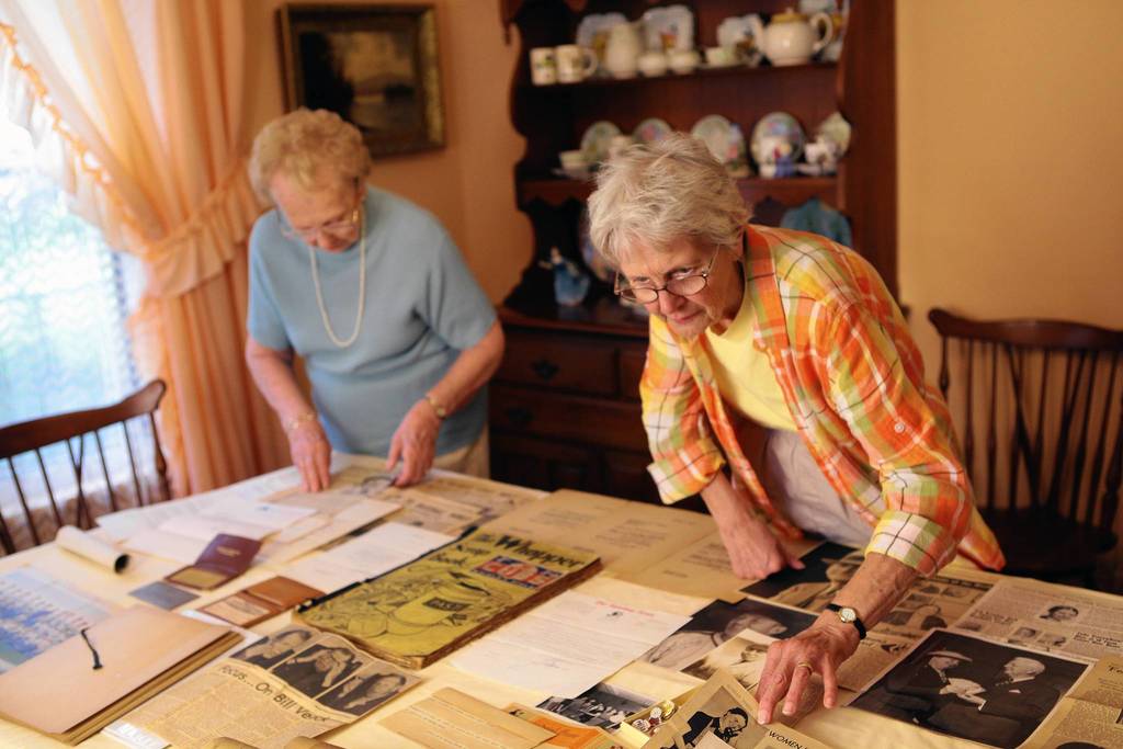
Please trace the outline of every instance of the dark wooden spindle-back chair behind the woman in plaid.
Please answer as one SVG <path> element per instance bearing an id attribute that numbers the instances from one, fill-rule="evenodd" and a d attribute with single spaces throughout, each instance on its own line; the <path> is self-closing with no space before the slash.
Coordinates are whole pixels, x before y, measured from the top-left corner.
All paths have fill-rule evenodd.
<path id="1" fill-rule="evenodd" d="M 929 312 L 940 390 L 1003 572 L 1094 583 L 1123 464 L 1123 330 Z"/>

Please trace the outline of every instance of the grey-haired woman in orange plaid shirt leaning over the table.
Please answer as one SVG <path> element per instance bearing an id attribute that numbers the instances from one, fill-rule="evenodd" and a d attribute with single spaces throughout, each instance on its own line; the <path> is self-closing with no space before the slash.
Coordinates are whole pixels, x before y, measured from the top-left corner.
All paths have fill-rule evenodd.
<path id="1" fill-rule="evenodd" d="M 626 149 L 588 211 L 617 293 L 650 313 L 640 395 L 664 502 L 701 493 L 747 578 L 801 567 L 780 544 L 801 529 L 865 546 L 815 624 L 772 647 L 758 692 L 767 723 L 820 674 L 832 707 L 839 665 L 917 576 L 957 552 L 1003 565 L 905 320 L 852 250 L 750 226 L 697 139 Z"/>

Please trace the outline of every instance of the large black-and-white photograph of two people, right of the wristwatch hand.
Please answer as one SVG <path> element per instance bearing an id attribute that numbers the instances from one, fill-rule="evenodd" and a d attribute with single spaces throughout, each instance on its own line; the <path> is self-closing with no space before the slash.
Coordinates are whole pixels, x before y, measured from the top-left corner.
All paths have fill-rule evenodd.
<path id="1" fill-rule="evenodd" d="M 1083 663 L 933 630 L 851 706 L 1013 749 L 1086 668 Z"/>

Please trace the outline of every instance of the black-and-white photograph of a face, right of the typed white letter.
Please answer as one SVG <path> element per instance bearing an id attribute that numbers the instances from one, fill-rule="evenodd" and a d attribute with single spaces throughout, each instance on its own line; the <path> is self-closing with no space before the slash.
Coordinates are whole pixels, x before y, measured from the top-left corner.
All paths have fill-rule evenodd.
<path id="1" fill-rule="evenodd" d="M 813 614 L 768 601 L 745 599 L 736 604 L 714 601 L 678 631 L 643 654 L 642 660 L 678 670 L 745 630 L 784 639 L 811 627 Z"/>

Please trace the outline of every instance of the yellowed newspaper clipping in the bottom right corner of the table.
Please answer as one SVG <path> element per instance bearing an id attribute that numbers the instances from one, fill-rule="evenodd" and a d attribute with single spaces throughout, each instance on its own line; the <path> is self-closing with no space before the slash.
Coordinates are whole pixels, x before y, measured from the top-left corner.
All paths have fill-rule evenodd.
<path id="1" fill-rule="evenodd" d="M 1025 749 L 1123 749 L 1123 659 L 1104 658 L 1065 695 Z"/>

